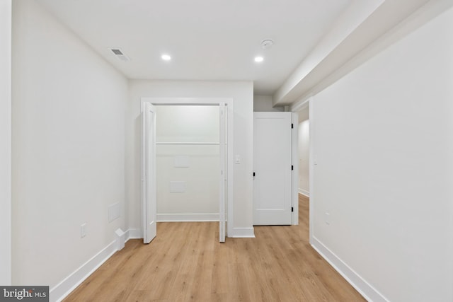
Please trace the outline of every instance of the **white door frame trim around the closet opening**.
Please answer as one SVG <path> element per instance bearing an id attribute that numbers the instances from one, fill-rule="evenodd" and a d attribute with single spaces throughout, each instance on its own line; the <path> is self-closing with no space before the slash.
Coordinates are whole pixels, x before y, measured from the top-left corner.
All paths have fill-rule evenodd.
<path id="1" fill-rule="evenodd" d="M 227 199 L 226 199 L 226 236 L 233 233 L 234 226 L 234 203 L 233 203 L 233 169 L 234 169 L 234 108 L 232 98 L 153 98 L 153 97 L 142 97 L 141 98 L 141 112 L 144 110 L 145 103 L 152 105 L 221 105 L 225 104 L 227 110 L 227 167 L 226 167 L 226 184 L 227 184 Z M 142 197 L 142 204 L 144 200 Z M 222 209 L 219 209 L 222 213 Z M 143 228 L 143 223 L 142 223 Z M 142 230 L 143 231 L 143 230 Z"/>

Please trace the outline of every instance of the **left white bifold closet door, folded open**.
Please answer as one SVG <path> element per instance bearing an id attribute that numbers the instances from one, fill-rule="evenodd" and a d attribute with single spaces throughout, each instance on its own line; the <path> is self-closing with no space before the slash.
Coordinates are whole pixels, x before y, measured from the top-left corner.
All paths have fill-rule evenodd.
<path id="1" fill-rule="evenodd" d="M 142 110 L 142 228 L 143 243 L 156 237 L 156 111 L 150 103 Z"/>

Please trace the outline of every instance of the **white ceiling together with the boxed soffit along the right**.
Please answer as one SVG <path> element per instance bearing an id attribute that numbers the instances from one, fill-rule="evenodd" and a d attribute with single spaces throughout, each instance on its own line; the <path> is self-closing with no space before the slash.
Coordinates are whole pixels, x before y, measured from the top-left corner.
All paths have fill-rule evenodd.
<path id="1" fill-rule="evenodd" d="M 253 81 L 256 95 L 279 106 L 303 103 L 365 62 L 377 47 L 361 53 L 413 23 L 409 16 L 442 11 L 439 0 L 35 1 L 129 79 Z M 263 50 L 265 39 L 275 45 Z"/>

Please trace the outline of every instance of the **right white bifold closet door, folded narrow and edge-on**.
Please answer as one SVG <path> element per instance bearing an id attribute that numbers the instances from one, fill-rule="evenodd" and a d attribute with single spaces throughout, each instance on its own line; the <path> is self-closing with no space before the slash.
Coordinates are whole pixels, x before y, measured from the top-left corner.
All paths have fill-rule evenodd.
<path id="1" fill-rule="evenodd" d="M 226 131 L 227 117 L 226 117 L 226 106 L 224 103 L 219 104 L 219 115 L 220 115 L 220 185 L 219 185 L 219 242 L 225 242 L 226 237 L 226 200 L 227 198 L 227 175 L 226 175 L 226 159 L 227 159 L 227 142 L 226 142 Z"/>

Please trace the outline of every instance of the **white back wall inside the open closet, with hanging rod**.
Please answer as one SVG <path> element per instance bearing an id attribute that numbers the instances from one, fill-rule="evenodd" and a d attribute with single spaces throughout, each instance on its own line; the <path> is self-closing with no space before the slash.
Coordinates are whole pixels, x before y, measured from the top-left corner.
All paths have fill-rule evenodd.
<path id="1" fill-rule="evenodd" d="M 219 107 L 156 106 L 156 117 L 158 221 L 219 221 Z"/>

